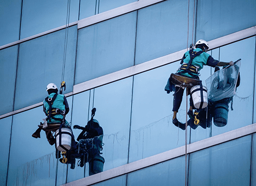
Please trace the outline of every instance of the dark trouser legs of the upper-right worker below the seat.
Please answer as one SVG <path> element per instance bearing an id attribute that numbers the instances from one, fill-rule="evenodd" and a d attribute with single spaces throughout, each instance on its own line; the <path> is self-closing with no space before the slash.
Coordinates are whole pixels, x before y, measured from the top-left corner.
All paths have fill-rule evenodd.
<path id="1" fill-rule="evenodd" d="M 187 90 L 186 90 L 187 91 Z M 188 88 L 189 95 L 190 95 L 190 88 Z M 173 98 L 173 112 L 179 110 L 182 97 L 183 97 L 184 89 L 178 86 L 175 86 L 174 98 Z M 189 104 L 194 108 L 193 100 L 190 95 Z"/>

